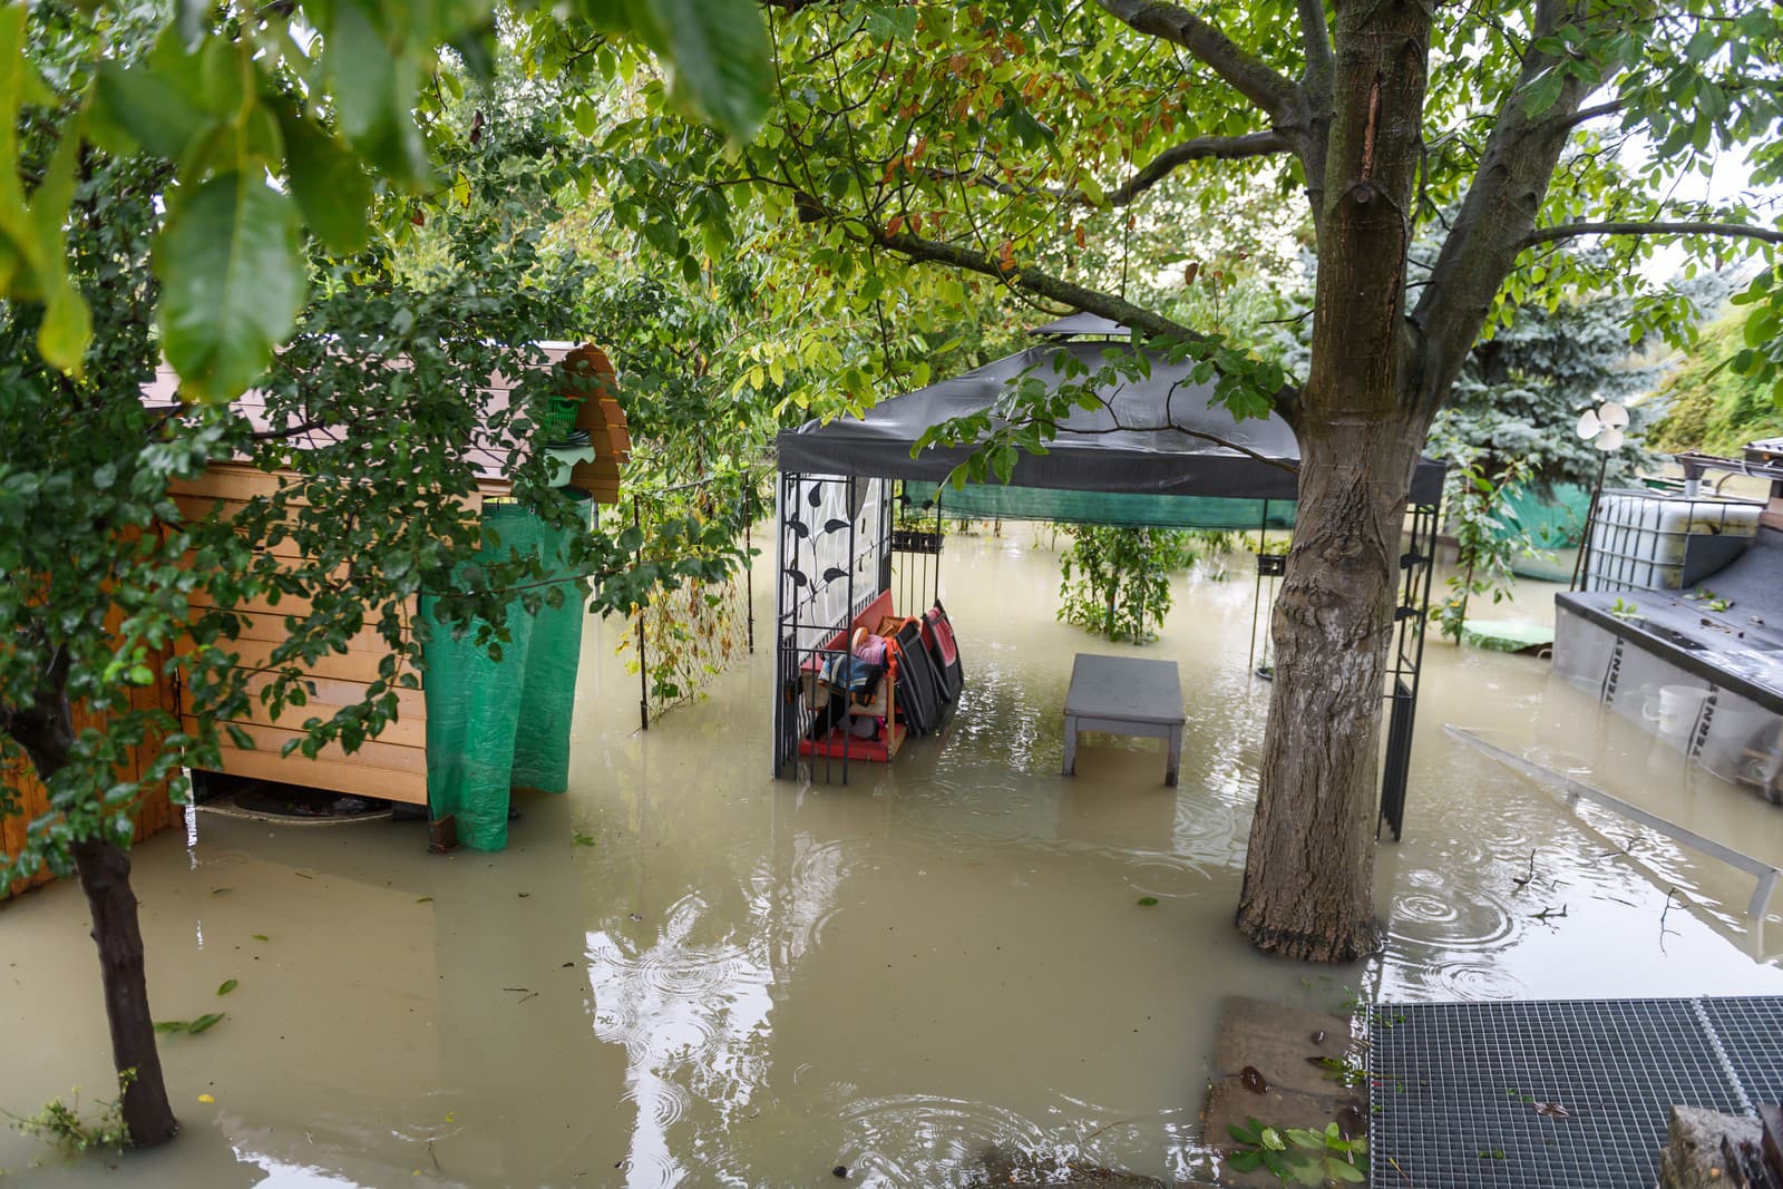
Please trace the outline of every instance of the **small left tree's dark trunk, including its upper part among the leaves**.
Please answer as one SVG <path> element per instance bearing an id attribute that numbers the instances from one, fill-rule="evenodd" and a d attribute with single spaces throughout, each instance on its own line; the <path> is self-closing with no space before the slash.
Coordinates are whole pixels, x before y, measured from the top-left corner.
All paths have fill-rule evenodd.
<path id="1" fill-rule="evenodd" d="M 53 665 L 45 674 L 34 704 L 12 711 L 5 722 L 45 786 L 68 767 L 75 743 L 66 677 L 66 665 Z M 93 914 L 93 943 L 100 950 L 112 1062 L 123 1084 L 123 1121 L 134 1146 L 164 1144 L 178 1134 L 180 1121 L 168 1103 L 160 1054 L 155 1048 L 155 1018 L 148 1011 L 148 975 L 143 966 L 136 893 L 130 891 L 130 856 L 103 838 L 77 841 L 73 850 L 80 888 Z"/>

